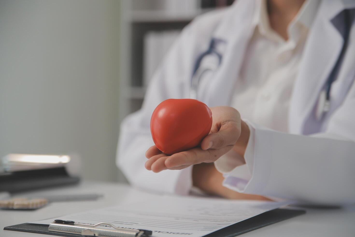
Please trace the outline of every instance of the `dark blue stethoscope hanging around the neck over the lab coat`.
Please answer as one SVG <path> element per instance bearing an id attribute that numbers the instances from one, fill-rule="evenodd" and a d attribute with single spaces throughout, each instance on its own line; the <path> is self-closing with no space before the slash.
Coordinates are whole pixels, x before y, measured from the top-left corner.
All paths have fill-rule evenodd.
<path id="1" fill-rule="evenodd" d="M 344 10 L 344 43 L 337 62 L 335 63 L 331 73 L 328 76 L 326 85 L 320 93 L 315 114 L 317 120 L 321 120 L 324 117 L 324 114 L 326 114 L 331 107 L 330 99 L 332 84 L 337 78 L 349 42 L 349 34 L 351 29 L 350 11 L 350 9 Z M 220 45 L 225 47 L 225 44 L 226 42 L 223 40 L 212 38 L 208 49 L 197 58 L 191 79 L 190 98 L 197 99 L 198 85 L 202 78 L 218 69 L 222 62 L 222 52 Z"/>

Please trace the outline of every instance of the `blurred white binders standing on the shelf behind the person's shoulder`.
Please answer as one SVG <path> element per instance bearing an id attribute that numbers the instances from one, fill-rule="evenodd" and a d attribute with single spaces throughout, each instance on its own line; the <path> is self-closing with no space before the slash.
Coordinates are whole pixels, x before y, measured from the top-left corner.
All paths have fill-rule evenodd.
<path id="1" fill-rule="evenodd" d="M 149 31 L 144 35 L 143 86 L 149 84 L 155 70 L 180 32 L 180 30 Z"/>

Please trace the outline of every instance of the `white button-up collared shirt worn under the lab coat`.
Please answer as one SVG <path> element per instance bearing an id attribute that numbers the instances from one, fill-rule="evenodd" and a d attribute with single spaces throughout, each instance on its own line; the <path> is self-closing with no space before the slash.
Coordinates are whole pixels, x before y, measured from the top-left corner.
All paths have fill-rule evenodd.
<path id="1" fill-rule="evenodd" d="M 302 59 L 308 29 L 318 8 L 318 0 L 307 0 L 287 28 L 285 41 L 269 25 L 266 0 L 258 1 L 254 16 L 255 31 L 245 53 L 231 106 L 237 109 L 250 128 L 250 138 L 241 165 L 231 150 L 215 161 L 224 174 L 223 185 L 242 192 L 252 177 L 255 129 L 288 131 L 288 113 L 293 84 Z"/>

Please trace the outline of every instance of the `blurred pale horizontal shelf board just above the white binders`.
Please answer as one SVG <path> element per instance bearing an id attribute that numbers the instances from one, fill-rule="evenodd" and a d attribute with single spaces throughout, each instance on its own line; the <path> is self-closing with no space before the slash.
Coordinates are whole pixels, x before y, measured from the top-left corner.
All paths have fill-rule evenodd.
<path id="1" fill-rule="evenodd" d="M 186 22 L 191 21 L 198 15 L 213 9 L 198 9 L 190 12 L 168 12 L 164 10 L 133 10 L 131 11 L 131 21 L 133 23 L 152 22 Z"/>

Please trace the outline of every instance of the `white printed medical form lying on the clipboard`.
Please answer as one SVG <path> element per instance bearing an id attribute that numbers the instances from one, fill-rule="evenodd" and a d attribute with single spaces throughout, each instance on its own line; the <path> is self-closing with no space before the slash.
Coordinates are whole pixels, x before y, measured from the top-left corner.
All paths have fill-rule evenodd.
<path id="1" fill-rule="evenodd" d="M 57 217 L 80 223 L 108 222 L 118 227 L 152 230 L 153 236 L 204 236 L 288 203 L 215 198 L 154 196 L 135 203 Z M 49 224 L 54 219 L 32 223 Z M 106 227 L 110 228 L 110 227 Z"/>

